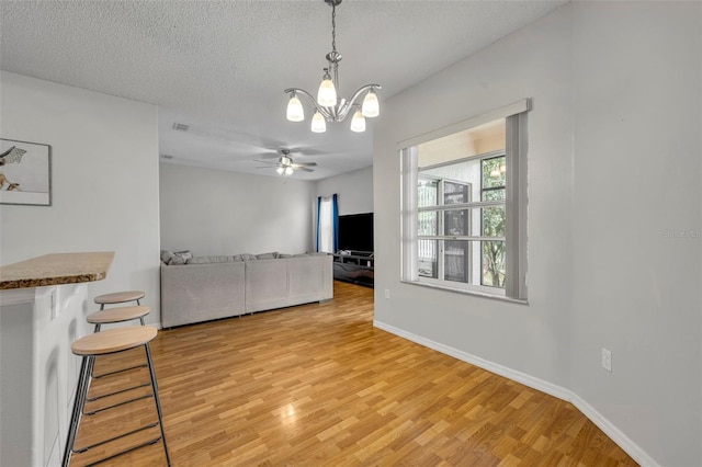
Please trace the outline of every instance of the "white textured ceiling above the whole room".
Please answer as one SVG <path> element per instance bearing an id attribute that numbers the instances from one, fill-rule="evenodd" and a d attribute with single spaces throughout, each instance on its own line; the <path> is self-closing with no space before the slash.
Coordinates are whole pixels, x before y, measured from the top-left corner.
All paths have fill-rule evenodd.
<path id="1" fill-rule="evenodd" d="M 376 82 L 383 100 L 546 14 L 558 1 L 362 1 L 337 7 L 340 93 Z M 317 180 L 372 164 L 372 128 L 309 132 L 285 119 L 291 87 L 316 94 L 331 8 L 306 1 L 4 1 L 0 68 L 159 106 L 170 162 L 275 175 L 280 147 Z M 188 133 L 173 123 L 190 125 Z M 128 137 L 128 135 L 126 135 Z"/>

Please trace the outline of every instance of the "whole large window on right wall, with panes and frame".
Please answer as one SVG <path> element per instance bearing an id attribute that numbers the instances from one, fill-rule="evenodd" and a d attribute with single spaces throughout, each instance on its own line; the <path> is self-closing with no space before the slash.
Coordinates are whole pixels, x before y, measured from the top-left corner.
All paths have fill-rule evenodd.
<path id="1" fill-rule="evenodd" d="M 529 101 L 400 144 L 403 281 L 526 298 Z"/>

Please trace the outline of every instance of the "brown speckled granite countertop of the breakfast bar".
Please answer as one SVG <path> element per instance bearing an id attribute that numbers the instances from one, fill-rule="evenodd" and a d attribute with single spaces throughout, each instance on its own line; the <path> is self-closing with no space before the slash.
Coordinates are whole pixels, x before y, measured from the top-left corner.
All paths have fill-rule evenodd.
<path id="1" fill-rule="evenodd" d="M 54 253 L 0 267 L 0 291 L 102 281 L 113 251 Z"/>

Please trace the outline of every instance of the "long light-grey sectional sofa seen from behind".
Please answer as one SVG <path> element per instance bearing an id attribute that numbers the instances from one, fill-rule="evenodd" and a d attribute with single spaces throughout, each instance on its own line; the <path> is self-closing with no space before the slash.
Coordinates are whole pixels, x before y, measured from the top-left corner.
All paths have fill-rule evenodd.
<path id="1" fill-rule="evenodd" d="M 333 298 L 328 254 L 201 257 L 161 263 L 161 326 L 191 324 Z"/>

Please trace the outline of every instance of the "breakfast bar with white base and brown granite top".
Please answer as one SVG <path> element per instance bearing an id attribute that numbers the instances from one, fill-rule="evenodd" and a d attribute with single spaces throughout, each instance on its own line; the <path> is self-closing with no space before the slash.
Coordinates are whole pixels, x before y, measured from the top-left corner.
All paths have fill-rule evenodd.
<path id="1" fill-rule="evenodd" d="M 60 464 L 89 333 L 87 286 L 114 252 L 54 253 L 0 267 L 0 466 Z"/>

